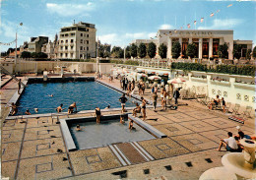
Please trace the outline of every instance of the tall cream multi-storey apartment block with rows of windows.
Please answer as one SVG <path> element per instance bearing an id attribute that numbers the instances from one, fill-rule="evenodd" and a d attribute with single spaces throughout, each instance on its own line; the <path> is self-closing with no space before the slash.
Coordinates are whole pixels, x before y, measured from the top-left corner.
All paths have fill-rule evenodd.
<path id="1" fill-rule="evenodd" d="M 60 30 L 59 59 L 87 59 L 96 57 L 96 27 L 79 22 Z"/>

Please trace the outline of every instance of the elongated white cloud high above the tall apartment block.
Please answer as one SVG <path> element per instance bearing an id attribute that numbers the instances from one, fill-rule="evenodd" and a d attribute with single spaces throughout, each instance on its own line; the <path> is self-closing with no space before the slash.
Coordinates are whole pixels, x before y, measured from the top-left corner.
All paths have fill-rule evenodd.
<path id="1" fill-rule="evenodd" d="M 95 9 L 95 4 L 88 2 L 87 4 L 55 4 L 46 3 L 46 8 L 51 13 L 56 13 L 59 16 L 68 17 L 81 14 L 87 14 Z"/>

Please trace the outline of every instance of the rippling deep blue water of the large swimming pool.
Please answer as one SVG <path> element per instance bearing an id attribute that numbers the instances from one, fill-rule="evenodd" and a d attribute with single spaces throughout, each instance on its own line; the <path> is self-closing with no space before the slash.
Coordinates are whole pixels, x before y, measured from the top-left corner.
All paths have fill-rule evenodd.
<path id="1" fill-rule="evenodd" d="M 73 102 L 77 103 L 78 111 L 93 110 L 96 106 L 103 109 L 108 104 L 110 108 L 120 108 L 118 99 L 121 95 L 122 93 L 96 82 L 30 84 L 19 100 L 18 114 L 24 114 L 28 108 L 32 114 L 35 114 L 34 108 L 38 108 L 38 114 L 53 113 L 61 103 L 67 112 Z M 133 102 L 136 100 L 127 98 L 126 107 L 135 106 Z"/>

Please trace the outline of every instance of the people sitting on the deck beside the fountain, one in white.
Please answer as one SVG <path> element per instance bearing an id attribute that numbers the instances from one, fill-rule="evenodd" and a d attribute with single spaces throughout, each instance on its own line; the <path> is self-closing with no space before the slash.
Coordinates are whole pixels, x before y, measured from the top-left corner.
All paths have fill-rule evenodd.
<path id="1" fill-rule="evenodd" d="M 233 136 L 231 132 L 227 133 L 227 138 L 222 139 L 221 143 L 219 145 L 218 151 L 221 151 L 224 147 L 227 151 L 242 151 L 243 146 L 240 144 L 240 140 L 242 139 L 250 139 L 255 140 L 256 137 L 250 137 L 248 135 L 245 135 L 244 132 L 241 130 L 240 126 L 236 126 L 236 129 L 238 130 L 237 135 Z"/>

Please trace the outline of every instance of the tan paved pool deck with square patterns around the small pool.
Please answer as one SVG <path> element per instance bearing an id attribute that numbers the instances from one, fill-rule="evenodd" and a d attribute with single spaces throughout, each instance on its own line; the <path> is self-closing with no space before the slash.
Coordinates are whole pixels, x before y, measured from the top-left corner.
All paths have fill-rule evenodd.
<path id="1" fill-rule="evenodd" d="M 119 82 L 109 83 L 119 88 Z M 17 93 L 12 80 L 1 90 L 1 116 Z M 150 89 L 144 95 L 150 99 Z M 47 117 L 24 116 L 3 120 L 2 176 L 10 179 L 198 179 L 212 167 L 222 166 L 226 151 L 217 151 L 226 133 L 237 133 L 241 126 L 248 135 L 255 135 L 255 116 L 240 124 L 228 119 L 228 114 L 210 111 L 195 100 L 179 100 L 177 110 L 157 112 L 147 108 L 146 123 L 166 138 L 132 143 L 119 143 L 103 148 L 68 151 L 56 123 L 62 118 L 94 116 L 93 111 Z M 187 103 L 188 105 L 182 105 Z M 131 112 L 131 110 L 128 110 Z M 103 115 L 118 114 L 119 109 L 103 111 Z"/>

